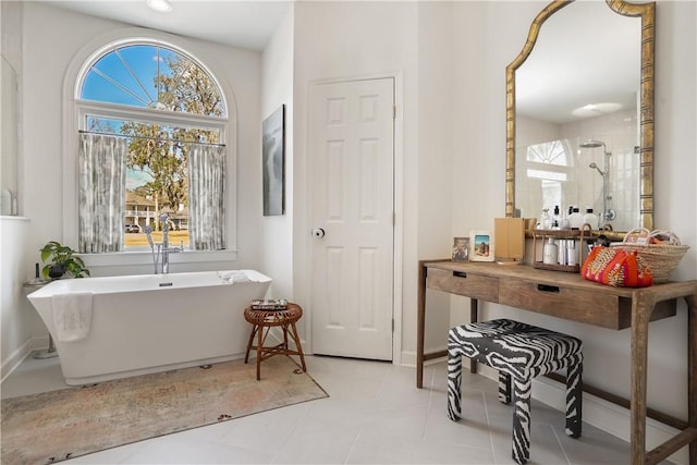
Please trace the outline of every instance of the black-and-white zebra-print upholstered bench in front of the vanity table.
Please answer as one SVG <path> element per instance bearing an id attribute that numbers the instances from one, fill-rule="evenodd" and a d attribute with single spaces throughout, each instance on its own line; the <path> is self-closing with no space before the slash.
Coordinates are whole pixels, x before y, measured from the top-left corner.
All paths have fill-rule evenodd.
<path id="1" fill-rule="evenodd" d="M 499 371 L 499 400 L 511 402 L 513 458 L 524 464 L 530 449 L 533 378 L 566 368 L 566 435 L 578 438 L 582 424 L 583 343 L 579 339 L 509 319 L 452 328 L 448 335 L 448 416 L 462 416 L 462 356 Z M 513 381 L 513 382 L 512 382 Z"/>

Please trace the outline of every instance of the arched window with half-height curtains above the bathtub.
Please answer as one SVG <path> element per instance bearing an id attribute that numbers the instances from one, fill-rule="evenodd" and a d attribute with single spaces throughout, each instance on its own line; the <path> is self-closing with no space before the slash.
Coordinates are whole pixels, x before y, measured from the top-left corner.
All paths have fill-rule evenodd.
<path id="1" fill-rule="evenodd" d="M 120 42 L 85 63 L 75 94 L 80 252 L 224 249 L 228 111 L 212 74 L 173 46 Z"/>

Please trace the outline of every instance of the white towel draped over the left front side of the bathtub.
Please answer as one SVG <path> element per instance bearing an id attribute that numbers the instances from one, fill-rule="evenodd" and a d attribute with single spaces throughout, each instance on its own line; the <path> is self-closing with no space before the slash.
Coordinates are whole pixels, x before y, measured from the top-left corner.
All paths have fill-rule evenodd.
<path id="1" fill-rule="evenodd" d="M 91 327 L 91 292 L 53 295 L 53 323 L 60 342 L 82 341 Z"/>

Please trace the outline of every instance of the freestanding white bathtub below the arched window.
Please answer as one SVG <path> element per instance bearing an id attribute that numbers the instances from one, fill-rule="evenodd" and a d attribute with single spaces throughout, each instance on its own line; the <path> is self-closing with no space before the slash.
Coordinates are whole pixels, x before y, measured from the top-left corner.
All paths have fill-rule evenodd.
<path id="1" fill-rule="evenodd" d="M 65 382 L 80 386 L 244 357 L 244 308 L 270 283 L 254 270 L 83 278 L 53 281 L 28 298 L 53 338 Z M 61 341 L 53 302 L 85 293 L 93 293 L 87 335 Z"/>

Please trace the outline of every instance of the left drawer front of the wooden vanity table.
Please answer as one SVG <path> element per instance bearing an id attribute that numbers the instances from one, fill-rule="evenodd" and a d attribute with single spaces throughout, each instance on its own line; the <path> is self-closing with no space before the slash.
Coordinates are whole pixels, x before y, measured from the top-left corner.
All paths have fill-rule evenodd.
<path id="1" fill-rule="evenodd" d="M 487 302 L 499 302 L 499 279 L 465 271 L 429 268 L 426 278 L 429 289 L 466 295 Z"/>

